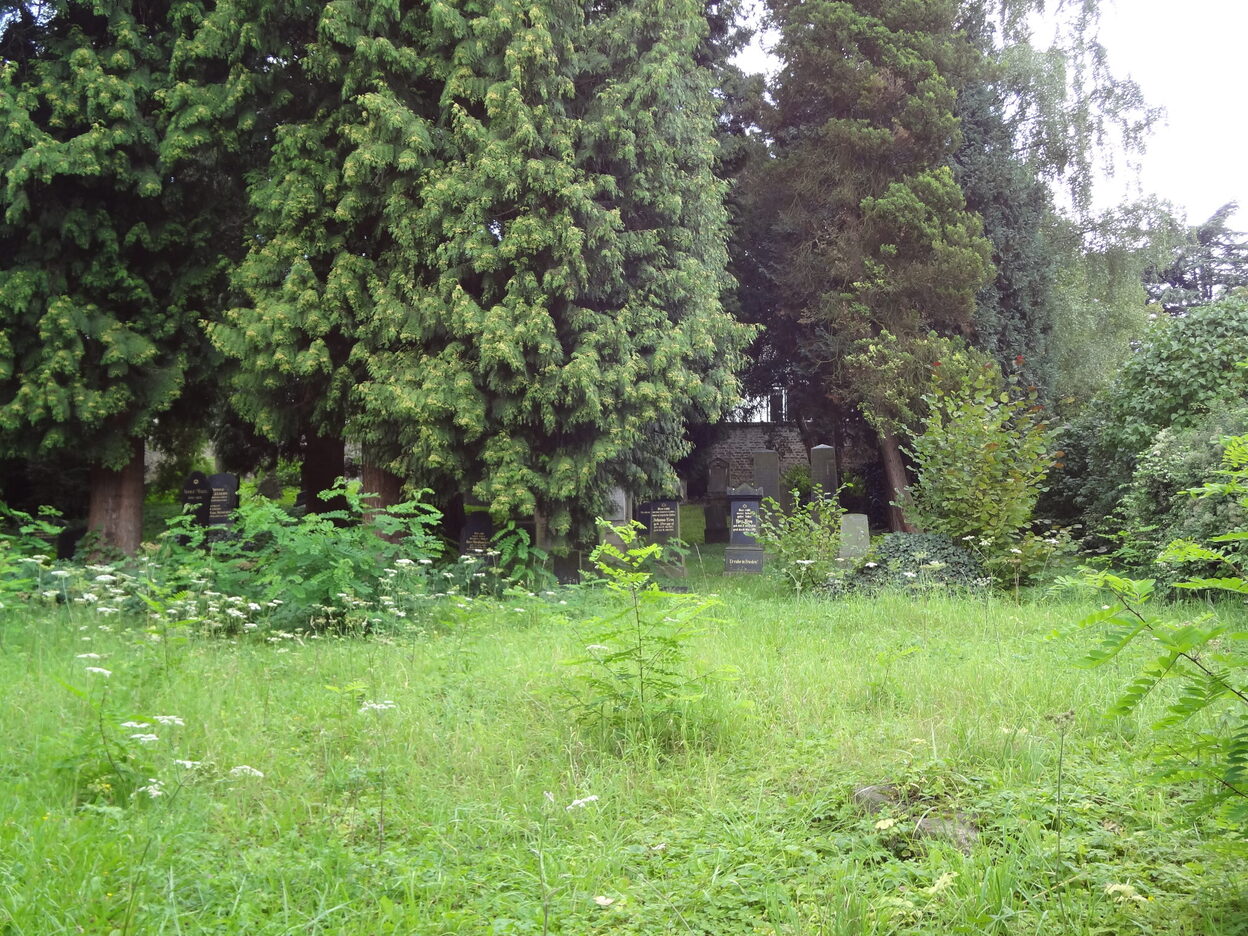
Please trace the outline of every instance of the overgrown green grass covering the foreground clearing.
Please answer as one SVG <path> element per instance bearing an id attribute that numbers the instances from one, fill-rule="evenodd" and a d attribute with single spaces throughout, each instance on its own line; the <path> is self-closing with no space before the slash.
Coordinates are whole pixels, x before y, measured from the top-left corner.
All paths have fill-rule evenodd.
<path id="1" fill-rule="evenodd" d="M 623 755 L 560 695 L 597 593 L 368 639 L 4 612 L 0 932 L 1248 932 L 1248 849 L 1137 766 L 1163 700 L 1107 721 L 1134 660 L 1045 639 L 1086 608 L 689 565 L 740 678 Z"/>

